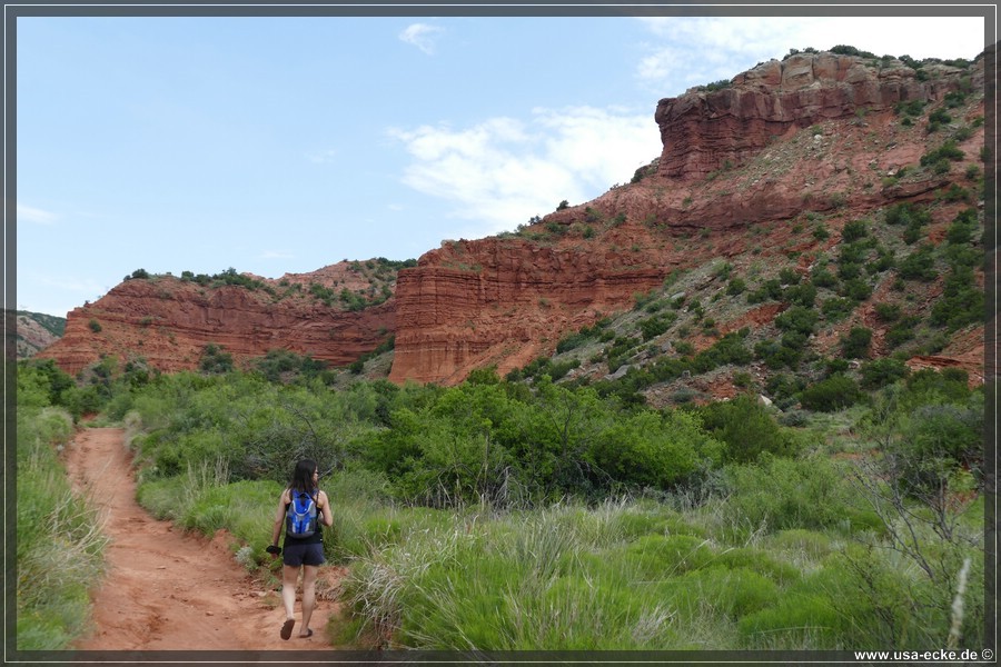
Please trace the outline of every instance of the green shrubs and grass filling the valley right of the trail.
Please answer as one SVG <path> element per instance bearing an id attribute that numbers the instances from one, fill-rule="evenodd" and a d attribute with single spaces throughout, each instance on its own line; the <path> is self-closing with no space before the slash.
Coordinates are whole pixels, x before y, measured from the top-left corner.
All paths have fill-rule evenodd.
<path id="1" fill-rule="evenodd" d="M 68 380 L 19 368 L 36 404 L 71 397 Z M 979 645 L 983 392 L 922 371 L 865 396 L 790 427 L 750 395 L 652 409 L 489 370 L 331 390 L 262 360 L 119 374 L 100 409 L 130 425 L 140 501 L 230 530 L 260 576 L 274 496 L 296 459 L 319 461 L 325 549 L 349 566 L 340 644 Z"/>

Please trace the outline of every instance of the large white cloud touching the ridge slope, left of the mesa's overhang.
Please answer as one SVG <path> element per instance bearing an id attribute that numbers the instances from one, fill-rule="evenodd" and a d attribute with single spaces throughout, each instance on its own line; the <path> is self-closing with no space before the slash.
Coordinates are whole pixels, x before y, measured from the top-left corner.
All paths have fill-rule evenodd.
<path id="1" fill-rule="evenodd" d="M 622 109 L 535 109 L 527 121 L 389 133 L 414 158 L 404 183 L 453 202 L 452 216 L 474 221 L 463 235 L 473 238 L 597 197 L 660 153 L 650 113 Z"/>

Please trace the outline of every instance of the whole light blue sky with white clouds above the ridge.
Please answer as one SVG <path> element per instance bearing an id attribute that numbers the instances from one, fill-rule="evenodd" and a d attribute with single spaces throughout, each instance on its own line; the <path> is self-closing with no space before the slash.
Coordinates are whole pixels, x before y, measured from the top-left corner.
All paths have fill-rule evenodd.
<path id="1" fill-rule="evenodd" d="M 17 307 L 60 317 L 138 268 L 278 278 L 514 230 L 657 157 L 660 98 L 790 49 L 973 59 L 984 34 L 944 17 L 17 28 Z"/>

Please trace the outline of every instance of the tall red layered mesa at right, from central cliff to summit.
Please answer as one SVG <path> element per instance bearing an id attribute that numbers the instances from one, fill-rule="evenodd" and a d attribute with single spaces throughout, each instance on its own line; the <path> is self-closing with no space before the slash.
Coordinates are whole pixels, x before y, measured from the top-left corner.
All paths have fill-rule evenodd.
<path id="1" fill-rule="evenodd" d="M 882 180 L 936 141 L 901 123 L 894 107 L 982 86 L 983 69 L 965 82 L 957 68 L 925 73 L 919 80 L 899 61 L 807 53 L 759 66 L 732 88 L 661 100 L 653 176 L 546 216 L 519 235 L 529 242 L 460 241 L 400 273 L 390 379 L 452 384 L 486 365 L 504 374 L 602 315 L 628 310 L 675 269 L 746 252 L 752 242 L 765 261 L 780 252 L 809 260 L 820 243 L 782 247 L 782 226 L 805 212 L 865 215 L 935 197 L 948 176 Z M 971 160 L 982 142 L 980 130 L 963 145 Z M 779 228 L 749 239 L 762 223 Z"/>

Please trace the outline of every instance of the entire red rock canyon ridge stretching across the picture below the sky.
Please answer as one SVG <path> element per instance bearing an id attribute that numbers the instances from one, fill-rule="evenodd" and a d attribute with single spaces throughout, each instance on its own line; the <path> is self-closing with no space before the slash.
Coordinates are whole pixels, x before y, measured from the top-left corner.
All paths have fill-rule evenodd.
<path id="1" fill-rule="evenodd" d="M 807 51 L 660 100 L 647 166 L 517 231 L 443 241 L 416 262 L 344 261 L 278 279 L 139 270 L 69 312 L 63 336 L 37 357 L 70 374 L 106 356 L 171 372 L 199 368 L 207 346 L 237 366 L 275 349 L 335 367 L 392 349 L 390 381 L 454 385 L 478 368 L 504 375 L 553 356 L 561 339 L 633 311 L 637 296 L 665 286 L 665 296 L 687 298 L 688 308 L 695 297 L 711 316 L 712 326 L 690 337 L 696 350 L 740 329 L 776 338 L 787 303 L 751 302 L 727 280 L 753 288 L 782 269 L 807 277 L 836 256 L 846 226 L 885 226 L 901 206 L 929 211 L 921 240 L 930 246 L 944 242 L 961 211 L 984 216 L 982 195 L 970 192 L 977 171 L 988 170 L 984 58 L 919 63 L 850 48 Z M 928 156 L 944 146 L 942 167 Z M 899 265 L 911 249 L 889 251 Z M 832 318 L 812 345 L 831 352 L 851 327 L 865 326 L 873 355 L 889 355 L 892 323 L 876 303 L 895 299 L 905 313 L 926 313 L 947 290 L 941 273 L 908 289 L 899 271 L 871 273 L 872 296 Z M 983 289 L 982 266 L 975 280 Z M 950 331 L 938 348 L 913 350 L 909 365 L 983 378 L 982 323 Z M 673 354 L 666 340 L 657 349 Z M 592 366 L 594 377 L 615 370 Z"/>

